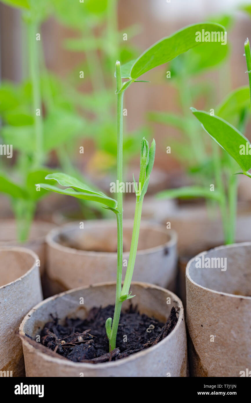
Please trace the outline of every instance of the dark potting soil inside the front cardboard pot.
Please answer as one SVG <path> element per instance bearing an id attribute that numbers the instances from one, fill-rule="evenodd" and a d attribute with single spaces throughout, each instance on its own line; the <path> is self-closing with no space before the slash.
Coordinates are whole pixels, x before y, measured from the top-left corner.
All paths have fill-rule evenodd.
<path id="1" fill-rule="evenodd" d="M 101 363 L 115 361 L 156 345 L 175 327 L 176 310 L 171 309 L 166 324 L 145 314 L 132 305 L 121 312 L 116 349 L 109 352 L 105 323 L 112 318 L 114 305 L 94 307 L 86 319 L 65 319 L 64 325 L 52 316 L 41 331 L 41 343 L 75 362 Z"/>

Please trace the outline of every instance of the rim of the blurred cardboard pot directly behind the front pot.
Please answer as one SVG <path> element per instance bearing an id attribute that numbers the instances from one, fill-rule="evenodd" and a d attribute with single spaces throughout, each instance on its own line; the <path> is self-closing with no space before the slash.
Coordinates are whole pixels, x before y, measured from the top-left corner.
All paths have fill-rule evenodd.
<path id="1" fill-rule="evenodd" d="M 114 226 L 116 225 L 116 220 L 83 220 L 83 223 L 91 226 L 92 224 L 97 224 L 97 225 L 102 225 L 104 226 L 105 224 L 111 225 L 114 224 Z M 46 243 L 47 245 L 49 245 L 50 247 L 53 247 L 55 249 L 58 249 L 58 251 L 64 251 L 67 253 L 73 253 L 73 254 L 77 254 L 80 256 L 84 256 L 84 255 L 88 255 L 88 256 L 117 256 L 117 252 L 100 252 L 100 251 L 85 251 L 85 250 L 79 250 L 79 249 L 75 249 L 73 247 L 69 247 L 69 246 L 63 246 L 60 245 L 60 243 L 54 241 L 54 238 L 56 237 L 56 235 L 58 235 L 61 231 L 74 227 L 78 225 L 79 226 L 79 221 L 73 221 L 73 222 L 68 222 L 67 224 L 63 224 L 57 228 L 52 229 L 47 235 L 46 235 Z M 123 220 L 123 227 L 129 227 L 131 226 L 131 228 L 133 228 L 133 220 Z M 146 220 L 141 221 L 140 224 L 140 228 L 142 229 L 156 229 L 160 232 L 162 232 L 164 235 L 166 235 L 166 231 L 163 229 L 162 225 L 160 224 L 151 224 L 151 222 L 147 222 Z M 165 243 L 162 243 L 158 246 L 152 247 L 152 248 L 146 248 L 146 249 L 139 249 L 137 251 L 137 255 L 142 255 L 142 254 L 146 254 L 146 253 L 154 253 L 157 252 L 159 250 L 162 250 L 165 247 L 172 247 L 173 245 L 175 245 L 177 243 L 178 240 L 178 235 L 176 233 L 176 231 L 170 229 L 168 230 L 168 235 L 170 237 L 170 239 L 168 241 L 166 241 Z M 127 252 L 123 252 L 123 256 L 129 256 L 129 251 Z"/>

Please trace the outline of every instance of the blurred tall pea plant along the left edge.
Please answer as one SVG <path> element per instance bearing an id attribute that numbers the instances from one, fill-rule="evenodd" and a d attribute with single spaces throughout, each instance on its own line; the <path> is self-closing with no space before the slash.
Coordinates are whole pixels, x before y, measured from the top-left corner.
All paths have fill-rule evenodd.
<path id="1" fill-rule="evenodd" d="M 2 2 L 21 8 L 23 20 L 27 28 L 29 84 L 14 88 L 4 83 L 0 88 L 0 110 L 6 127 L 1 136 L 6 143 L 14 145 L 20 154 L 16 158 L 12 176 L 0 172 L 0 191 L 6 193 L 12 203 L 17 218 L 17 238 L 25 241 L 29 235 L 29 227 L 40 194 L 35 191 L 34 184 L 48 174 L 50 170 L 43 167 L 44 138 L 41 114 L 41 92 L 39 85 L 39 42 L 36 41 L 38 26 L 48 15 L 49 2 L 33 0 L 3 0 Z M 39 10 L 39 12 L 38 12 Z M 41 46 L 41 45 L 40 45 Z M 29 107 L 26 100 L 29 98 Z M 18 129 L 20 131 L 18 132 Z M 27 129 L 27 130 L 26 130 Z"/>

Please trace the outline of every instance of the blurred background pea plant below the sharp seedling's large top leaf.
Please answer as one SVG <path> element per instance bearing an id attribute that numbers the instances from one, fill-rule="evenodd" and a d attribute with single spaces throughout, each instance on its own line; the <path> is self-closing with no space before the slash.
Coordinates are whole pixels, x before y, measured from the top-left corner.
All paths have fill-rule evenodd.
<path id="1" fill-rule="evenodd" d="M 221 15 L 214 19 L 210 18 L 209 21 L 220 23 L 228 30 L 232 18 Z M 176 103 L 182 113 L 151 111 L 147 114 L 150 122 L 176 129 L 180 138 L 168 137 L 172 156 L 185 168 L 189 181 L 199 186 L 207 181 L 212 183 L 213 157 L 210 139 L 203 136 L 199 122 L 191 116 L 189 108 L 201 99 L 205 99 L 204 108 L 209 108 L 214 102 L 216 85 L 219 87 L 220 83 L 220 87 L 226 87 L 228 81 L 226 60 L 229 53 L 227 43 L 222 46 L 221 42 L 205 42 L 172 60 L 168 65 L 165 81 L 175 89 Z M 223 68 L 216 72 L 215 82 L 209 83 L 203 79 L 203 73 L 219 66 Z M 224 70 L 223 77 L 220 74 L 221 70 Z M 211 204 L 212 202 L 208 201 L 208 207 Z"/>

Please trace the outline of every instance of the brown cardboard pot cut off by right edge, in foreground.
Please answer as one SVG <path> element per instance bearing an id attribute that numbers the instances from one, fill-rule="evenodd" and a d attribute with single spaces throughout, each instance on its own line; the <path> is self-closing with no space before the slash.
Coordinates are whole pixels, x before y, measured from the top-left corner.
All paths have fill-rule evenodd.
<path id="1" fill-rule="evenodd" d="M 221 267 L 197 268 L 205 258 L 222 258 Z M 251 369 L 250 261 L 251 243 L 246 242 L 202 252 L 187 264 L 192 376 L 240 376 Z"/>

